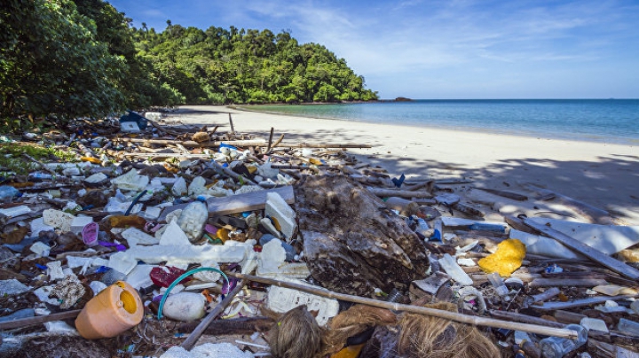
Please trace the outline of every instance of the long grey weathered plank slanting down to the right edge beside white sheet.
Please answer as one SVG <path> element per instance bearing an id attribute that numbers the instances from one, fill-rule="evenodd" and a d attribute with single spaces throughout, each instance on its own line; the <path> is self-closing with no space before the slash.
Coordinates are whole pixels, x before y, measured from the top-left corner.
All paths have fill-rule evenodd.
<path id="1" fill-rule="evenodd" d="M 548 228 L 548 226 L 546 225 L 542 225 L 539 222 L 534 222 L 531 219 L 525 219 L 524 223 L 526 226 L 533 228 L 534 230 L 538 230 L 542 233 L 544 233 L 546 236 L 548 237 L 552 237 L 554 239 L 556 239 L 558 242 L 560 242 L 561 244 L 571 248 L 572 250 L 583 254 L 584 256 L 588 257 L 588 259 L 592 260 L 592 261 L 596 261 L 598 263 L 601 263 L 602 265 L 604 265 L 606 268 L 611 269 L 612 271 L 615 271 L 617 273 L 619 273 L 622 276 L 626 276 L 628 278 L 631 278 L 633 280 L 637 280 L 639 279 L 639 270 L 635 269 L 631 266 L 628 266 L 627 264 L 619 261 L 619 260 L 615 260 L 613 258 L 611 258 L 610 256 L 595 250 L 594 248 L 578 241 L 575 240 L 572 237 L 569 237 L 557 230 Z"/>

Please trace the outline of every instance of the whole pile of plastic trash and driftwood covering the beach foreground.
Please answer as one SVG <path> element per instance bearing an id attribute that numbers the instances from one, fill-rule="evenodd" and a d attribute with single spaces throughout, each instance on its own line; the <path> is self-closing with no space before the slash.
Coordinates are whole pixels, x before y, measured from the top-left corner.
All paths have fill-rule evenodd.
<path id="1" fill-rule="evenodd" d="M 638 356 L 639 227 L 229 121 L 3 136 L 73 160 L 2 170 L 0 356 Z"/>

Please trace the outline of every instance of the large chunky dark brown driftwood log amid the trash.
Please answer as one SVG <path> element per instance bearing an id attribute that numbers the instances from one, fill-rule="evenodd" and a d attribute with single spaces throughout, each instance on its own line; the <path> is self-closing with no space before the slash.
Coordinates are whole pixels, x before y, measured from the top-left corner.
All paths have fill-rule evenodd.
<path id="1" fill-rule="evenodd" d="M 308 267 L 324 287 L 369 296 L 375 288 L 405 290 L 425 277 L 422 240 L 359 183 L 307 176 L 295 191 Z"/>

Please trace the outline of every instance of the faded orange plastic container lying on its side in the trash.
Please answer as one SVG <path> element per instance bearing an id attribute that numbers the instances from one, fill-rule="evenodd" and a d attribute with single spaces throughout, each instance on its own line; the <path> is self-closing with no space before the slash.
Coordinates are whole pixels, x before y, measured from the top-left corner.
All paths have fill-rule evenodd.
<path id="1" fill-rule="evenodd" d="M 87 302 L 75 319 L 75 328 L 85 339 L 112 338 L 138 325 L 143 316 L 138 292 L 118 281 Z"/>

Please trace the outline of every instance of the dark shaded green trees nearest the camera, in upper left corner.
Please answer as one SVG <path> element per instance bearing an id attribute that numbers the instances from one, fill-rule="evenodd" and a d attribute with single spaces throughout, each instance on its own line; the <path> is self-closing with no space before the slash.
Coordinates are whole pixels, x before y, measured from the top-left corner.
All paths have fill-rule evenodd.
<path id="1" fill-rule="evenodd" d="M 122 109 L 123 59 L 96 40 L 69 0 L 6 0 L 0 9 L 2 117 L 83 116 Z"/>

